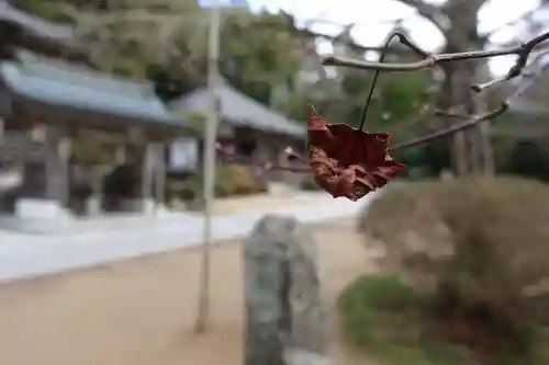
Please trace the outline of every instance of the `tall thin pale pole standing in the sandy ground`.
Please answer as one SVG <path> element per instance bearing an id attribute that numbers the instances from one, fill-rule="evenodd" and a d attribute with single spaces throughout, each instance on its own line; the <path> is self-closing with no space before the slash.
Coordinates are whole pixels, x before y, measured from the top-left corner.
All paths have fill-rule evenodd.
<path id="1" fill-rule="evenodd" d="M 210 246 L 212 240 L 212 204 L 214 201 L 215 182 L 215 144 L 219 124 L 216 85 L 219 82 L 217 62 L 220 59 L 221 11 L 219 7 L 213 7 L 210 9 L 210 12 L 208 88 L 210 90 L 211 100 L 204 136 L 204 231 L 202 242 L 202 275 L 200 283 L 199 315 L 194 327 L 198 333 L 205 330 L 210 313 Z"/>

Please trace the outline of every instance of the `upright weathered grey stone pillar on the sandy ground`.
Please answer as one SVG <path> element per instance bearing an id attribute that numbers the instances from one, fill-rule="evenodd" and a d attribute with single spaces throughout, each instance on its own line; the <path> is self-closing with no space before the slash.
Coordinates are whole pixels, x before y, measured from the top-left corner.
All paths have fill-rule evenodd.
<path id="1" fill-rule="evenodd" d="M 266 216 L 244 244 L 245 365 L 328 365 L 317 247 L 295 218 Z"/>

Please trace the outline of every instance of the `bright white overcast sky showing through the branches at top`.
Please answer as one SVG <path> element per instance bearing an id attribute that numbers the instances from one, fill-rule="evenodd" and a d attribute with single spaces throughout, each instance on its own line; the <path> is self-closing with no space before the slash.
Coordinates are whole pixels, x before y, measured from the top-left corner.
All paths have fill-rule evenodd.
<path id="1" fill-rule="evenodd" d="M 467 0 L 466 0 L 467 1 Z M 253 10 L 261 8 L 270 11 L 283 9 L 296 16 L 300 22 L 317 20 L 314 31 L 324 34 L 337 34 L 340 26 L 334 26 L 322 21 L 346 25 L 359 23 L 352 32 L 356 42 L 366 46 L 379 46 L 391 31 L 390 22 L 406 18 L 405 27 L 411 37 L 426 50 L 435 50 L 442 44 L 442 36 L 437 28 L 414 10 L 396 0 L 248 0 Z M 440 3 L 444 0 L 432 0 Z M 501 25 L 520 18 L 522 14 L 538 5 L 539 0 L 489 0 L 479 14 L 480 32 L 490 32 Z M 381 23 L 381 24 L 380 24 Z M 503 43 L 517 33 L 517 28 L 503 28 L 491 38 L 494 43 Z M 321 52 L 329 53 L 328 44 L 321 46 Z M 500 57 L 491 64 L 494 73 L 507 71 L 513 58 Z"/>

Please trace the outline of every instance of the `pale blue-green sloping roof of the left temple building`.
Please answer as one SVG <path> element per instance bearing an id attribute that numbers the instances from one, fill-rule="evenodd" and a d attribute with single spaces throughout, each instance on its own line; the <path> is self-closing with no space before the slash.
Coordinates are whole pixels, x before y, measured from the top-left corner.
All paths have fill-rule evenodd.
<path id="1" fill-rule="evenodd" d="M 166 107 L 148 82 L 115 79 L 36 59 L 0 64 L 0 77 L 11 92 L 55 106 L 182 127 L 181 116 Z"/>

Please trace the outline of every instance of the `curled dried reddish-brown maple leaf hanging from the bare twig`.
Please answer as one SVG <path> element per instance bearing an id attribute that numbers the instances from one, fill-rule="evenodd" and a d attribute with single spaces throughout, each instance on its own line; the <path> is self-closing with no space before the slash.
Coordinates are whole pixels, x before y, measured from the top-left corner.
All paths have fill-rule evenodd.
<path id="1" fill-rule="evenodd" d="M 358 201 L 405 168 L 389 156 L 389 133 L 366 133 L 346 124 L 329 124 L 313 112 L 307 137 L 314 179 L 334 197 Z"/>

